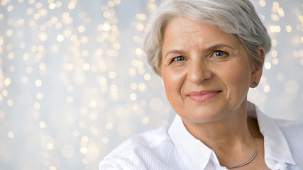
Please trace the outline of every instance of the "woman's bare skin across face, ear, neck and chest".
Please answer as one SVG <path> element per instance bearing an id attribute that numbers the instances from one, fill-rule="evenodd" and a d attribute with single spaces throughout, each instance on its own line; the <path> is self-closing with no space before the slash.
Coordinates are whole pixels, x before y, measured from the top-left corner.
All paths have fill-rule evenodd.
<path id="1" fill-rule="evenodd" d="M 167 99 L 187 130 L 227 165 L 250 159 L 253 135 L 260 152 L 243 167 L 266 169 L 263 136 L 246 115 L 248 89 L 260 81 L 262 68 L 253 67 L 237 38 L 207 23 L 174 18 L 163 38 L 159 72 Z M 257 52 L 264 59 L 263 47 Z"/>

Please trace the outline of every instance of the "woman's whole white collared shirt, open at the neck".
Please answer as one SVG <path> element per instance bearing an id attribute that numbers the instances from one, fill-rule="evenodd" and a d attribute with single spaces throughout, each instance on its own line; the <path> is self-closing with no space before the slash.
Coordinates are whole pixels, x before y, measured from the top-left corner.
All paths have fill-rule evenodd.
<path id="1" fill-rule="evenodd" d="M 303 124 L 269 118 L 256 109 L 264 136 L 265 163 L 270 169 L 303 169 Z M 212 149 L 191 135 L 179 115 L 171 125 L 123 142 L 99 164 L 108 169 L 226 169 Z"/>

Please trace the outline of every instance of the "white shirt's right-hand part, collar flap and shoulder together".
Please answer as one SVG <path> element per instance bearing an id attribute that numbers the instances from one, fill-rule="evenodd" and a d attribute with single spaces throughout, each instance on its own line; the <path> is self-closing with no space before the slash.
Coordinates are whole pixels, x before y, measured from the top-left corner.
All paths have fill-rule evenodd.
<path id="1" fill-rule="evenodd" d="M 257 113 L 268 157 L 280 162 L 289 162 L 292 166 L 302 169 L 303 124 L 293 120 L 270 118 L 258 110 Z"/>

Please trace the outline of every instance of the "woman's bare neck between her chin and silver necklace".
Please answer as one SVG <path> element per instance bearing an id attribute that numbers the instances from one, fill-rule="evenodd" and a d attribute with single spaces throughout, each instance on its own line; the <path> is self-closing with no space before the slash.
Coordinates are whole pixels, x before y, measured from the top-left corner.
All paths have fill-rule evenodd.
<path id="1" fill-rule="evenodd" d="M 189 123 L 183 120 L 187 130 L 204 145 L 214 150 L 222 164 L 238 164 L 233 159 L 247 157 L 255 152 L 255 142 L 248 129 L 246 102 L 235 111 L 226 112 L 219 120 L 208 123 Z"/>

